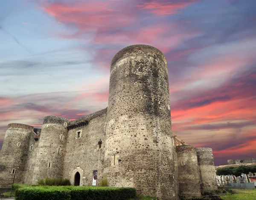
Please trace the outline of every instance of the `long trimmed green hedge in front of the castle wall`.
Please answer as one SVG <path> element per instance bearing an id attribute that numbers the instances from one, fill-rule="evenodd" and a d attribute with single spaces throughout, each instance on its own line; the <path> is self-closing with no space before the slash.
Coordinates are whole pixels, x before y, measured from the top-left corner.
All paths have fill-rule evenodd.
<path id="1" fill-rule="evenodd" d="M 134 188 L 31 186 L 18 189 L 16 200 L 128 200 L 135 196 Z"/>

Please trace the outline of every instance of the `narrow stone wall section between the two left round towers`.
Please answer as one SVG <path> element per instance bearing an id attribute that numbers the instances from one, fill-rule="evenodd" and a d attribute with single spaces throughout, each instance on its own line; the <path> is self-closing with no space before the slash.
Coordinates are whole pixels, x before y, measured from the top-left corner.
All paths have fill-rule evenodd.
<path id="1" fill-rule="evenodd" d="M 37 133 L 37 135 L 35 134 Z M 41 129 L 34 129 L 34 132 L 30 133 L 29 140 L 29 149 L 27 155 L 27 161 L 24 170 L 24 179 L 23 183 L 26 184 L 35 184 L 33 183 L 33 174 L 35 169 L 35 164 L 37 161 L 37 153 L 38 153 L 38 138 L 40 138 Z"/>

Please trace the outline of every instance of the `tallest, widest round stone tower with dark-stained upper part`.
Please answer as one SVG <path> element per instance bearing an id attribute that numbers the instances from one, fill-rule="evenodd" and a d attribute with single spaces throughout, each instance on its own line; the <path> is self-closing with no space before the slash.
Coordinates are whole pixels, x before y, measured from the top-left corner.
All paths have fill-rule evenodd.
<path id="1" fill-rule="evenodd" d="M 112 59 L 105 169 L 110 186 L 175 200 L 166 58 L 157 48 L 131 45 Z"/>

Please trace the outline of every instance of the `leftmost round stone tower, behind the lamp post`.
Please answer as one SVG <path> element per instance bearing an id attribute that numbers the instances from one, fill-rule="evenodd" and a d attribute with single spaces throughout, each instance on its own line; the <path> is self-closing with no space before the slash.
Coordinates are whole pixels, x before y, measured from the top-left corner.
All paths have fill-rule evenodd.
<path id="1" fill-rule="evenodd" d="M 15 183 L 23 182 L 32 131 L 26 124 L 8 124 L 0 153 L 0 187 L 12 186 L 14 175 Z"/>

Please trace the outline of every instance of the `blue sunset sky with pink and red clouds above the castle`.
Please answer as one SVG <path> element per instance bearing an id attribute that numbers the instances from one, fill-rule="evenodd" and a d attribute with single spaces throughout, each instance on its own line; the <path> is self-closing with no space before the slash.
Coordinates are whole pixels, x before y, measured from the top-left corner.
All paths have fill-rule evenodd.
<path id="1" fill-rule="evenodd" d="M 256 157 L 256 0 L 0 1 L 0 149 L 9 123 L 107 107 L 111 59 L 133 44 L 166 56 L 177 135 L 215 165 Z"/>

